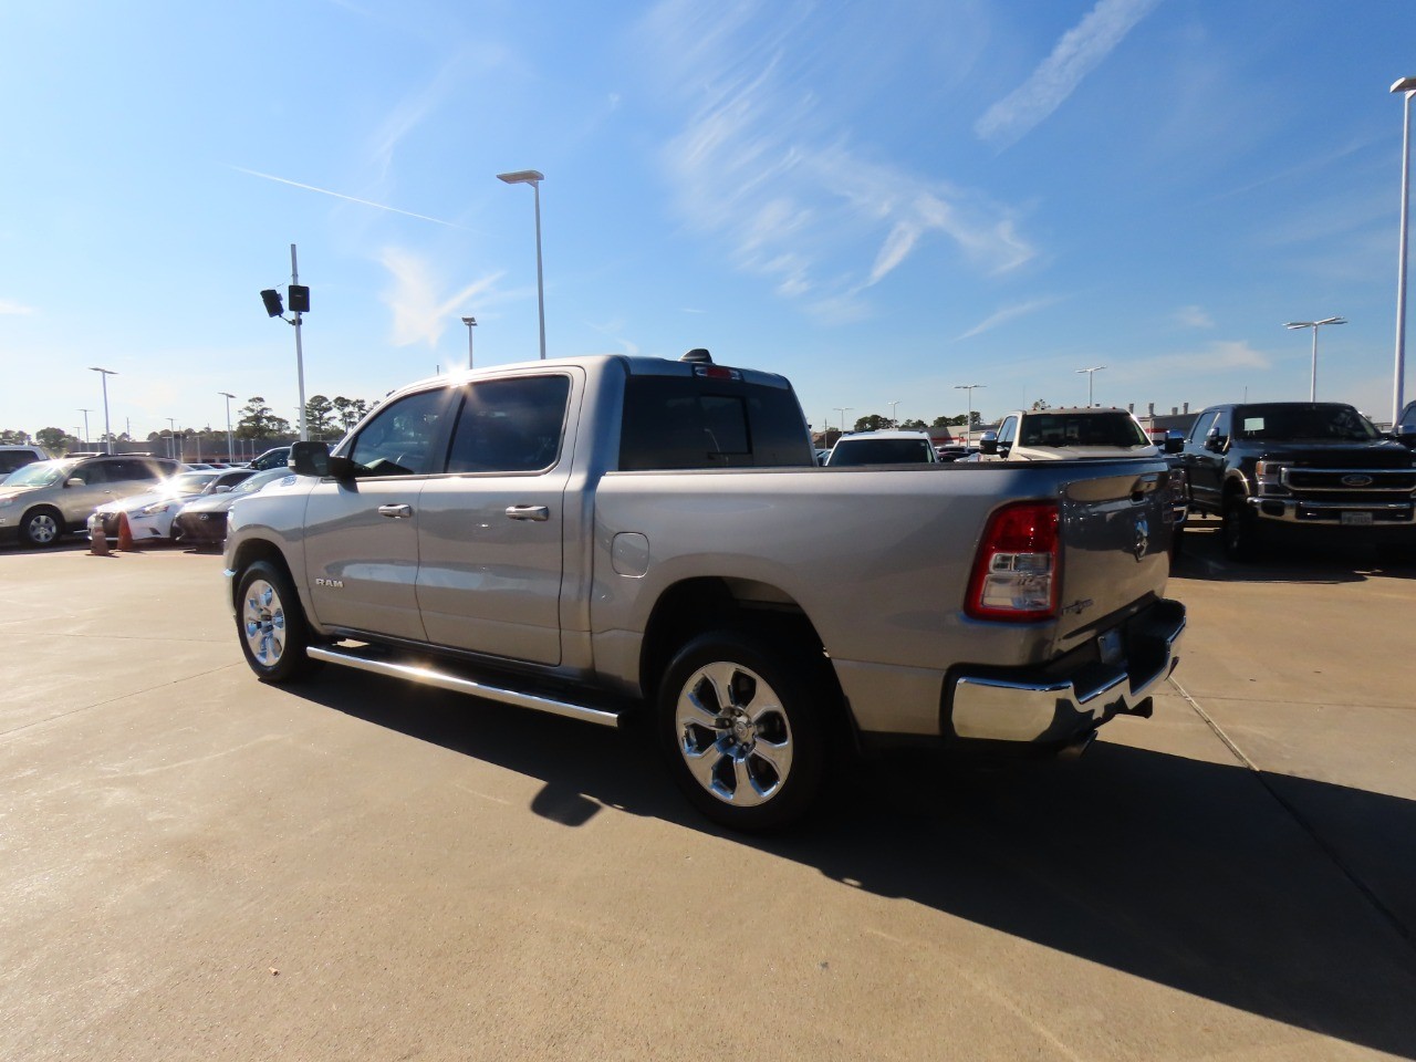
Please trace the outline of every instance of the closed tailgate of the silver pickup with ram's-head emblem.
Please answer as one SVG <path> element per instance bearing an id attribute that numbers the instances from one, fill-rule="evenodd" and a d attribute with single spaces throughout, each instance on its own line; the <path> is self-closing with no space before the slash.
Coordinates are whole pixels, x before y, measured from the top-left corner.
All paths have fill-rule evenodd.
<path id="1" fill-rule="evenodd" d="M 1164 590 L 1168 506 L 1168 473 L 1154 464 L 1080 479 L 1062 490 L 1058 637 L 1063 646 Z"/>

